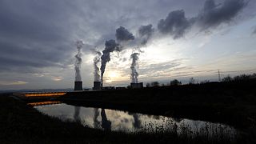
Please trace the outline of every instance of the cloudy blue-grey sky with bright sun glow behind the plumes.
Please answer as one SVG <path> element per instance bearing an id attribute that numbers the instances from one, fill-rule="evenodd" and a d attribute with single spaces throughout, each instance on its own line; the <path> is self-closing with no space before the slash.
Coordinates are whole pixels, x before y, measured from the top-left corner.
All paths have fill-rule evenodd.
<path id="1" fill-rule="evenodd" d="M 138 82 L 252 74 L 255 9 L 254 0 L 2 0 L 0 90 L 73 88 L 78 40 L 83 87 L 94 82 L 94 50 L 110 39 L 122 50 L 110 53 L 105 86 L 130 84 L 135 52 Z M 130 39 L 117 38 L 120 26 Z M 142 26 L 150 28 L 144 37 Z"/>

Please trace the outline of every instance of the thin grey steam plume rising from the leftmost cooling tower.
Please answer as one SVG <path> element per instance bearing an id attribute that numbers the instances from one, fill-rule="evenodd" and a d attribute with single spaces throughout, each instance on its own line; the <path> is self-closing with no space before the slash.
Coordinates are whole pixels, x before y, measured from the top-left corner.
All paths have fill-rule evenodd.
<path id="1" fill-rule="evenodd" d="M 80 74 L 80 68 L 81 68 L 81 63 L 82 63 L 82 53 L 81 53 L 81 49 L 82 46 L 84 45 L 84 43 L 82 41 L 77 41 L 76 42 L 76 46 L 78 49 L 78 54 L 76 54 L 74 57 L 76 58 L 76 61 L 74 63 L 74 70 L 75 70 L 75 82 L 81 82 L 82 78 L 81 78 L 81 74 Z"/>

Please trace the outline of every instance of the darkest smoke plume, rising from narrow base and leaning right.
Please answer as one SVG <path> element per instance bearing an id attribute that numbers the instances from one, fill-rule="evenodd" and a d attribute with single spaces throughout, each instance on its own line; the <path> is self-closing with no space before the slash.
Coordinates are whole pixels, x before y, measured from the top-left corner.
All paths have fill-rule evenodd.
<path id="1" fill-rule="evenodd" d="M 106 62 L 110 62 L 110 53 L 112 53 L 114 50 L 118 50 L 118 44 L 114 41 L 114 39 L 111 39 L 109 41 L 105 42 L 105 49 L 102 51 L 102 66 L 101 66 L 101 76 L 103 81 L 103 74 L 106 69 Z"/>

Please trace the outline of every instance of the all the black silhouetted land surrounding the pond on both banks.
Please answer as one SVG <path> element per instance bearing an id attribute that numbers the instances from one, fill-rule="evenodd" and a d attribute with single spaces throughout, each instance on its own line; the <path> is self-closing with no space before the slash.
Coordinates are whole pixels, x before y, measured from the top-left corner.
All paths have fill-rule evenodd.
<path id="1" fill-rule="evenodd" d="M 170 131 L 152 134 L 94 130 L 78 122 L 62 122 L 39 113 L 26 102 L 0 96 L 0 143 L 255 143 L 255 80 L 203 85 L 151 87 L 70 93 L 58 98 L 66 103 L 145 114 L 172 115 L 222 122 L 241 131 L 237 138 L 222 134 L 191 137 Z M 30 100 L 34 101 L 34 100 Z"/>

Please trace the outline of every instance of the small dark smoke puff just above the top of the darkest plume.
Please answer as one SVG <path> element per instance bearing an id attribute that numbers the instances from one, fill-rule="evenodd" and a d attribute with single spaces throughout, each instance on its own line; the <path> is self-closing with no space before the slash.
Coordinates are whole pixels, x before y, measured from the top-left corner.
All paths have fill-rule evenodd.
<path id="1" fill-rule="evenodd" d="M 126 28 L 120 26 L 115 33 L 118 42 L 134 40 L 134 34 L 131 34 Z"/>

